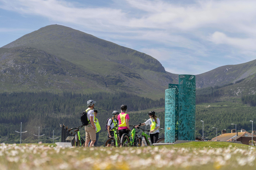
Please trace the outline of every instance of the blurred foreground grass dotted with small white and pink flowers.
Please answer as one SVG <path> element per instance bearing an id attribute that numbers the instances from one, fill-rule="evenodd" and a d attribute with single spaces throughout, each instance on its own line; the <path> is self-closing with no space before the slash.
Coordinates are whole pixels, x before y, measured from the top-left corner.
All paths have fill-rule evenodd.
<path id="1" fill-rule="evenodd" d="M 48 144 L 0 144 L 0 169 L 255 169 L 256 147 L 189 142 L 125 148 L 61 148 Z"/>

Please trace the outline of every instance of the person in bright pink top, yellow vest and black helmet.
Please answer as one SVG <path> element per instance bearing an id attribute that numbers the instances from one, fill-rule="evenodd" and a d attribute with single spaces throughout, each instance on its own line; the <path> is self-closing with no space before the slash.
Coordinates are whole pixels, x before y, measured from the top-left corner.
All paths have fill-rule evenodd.
<path id="1" fill-rule="evenodd" d="M 126 130 L 128 129 L 131 131 L 129 128 L 129 115 L 126 113 L 127 112 L 127 106 L 126 105 L 121 105 L 121 113 L 118 115 L 117 119 L 119 121 L 119 127 L 118 127 L 118 132 L 119 132 L 119 138 L 121 140 L 121 137 L 124 133 L 128 133 Z M 122 146 L 122 144 L 120 145 Z"/>

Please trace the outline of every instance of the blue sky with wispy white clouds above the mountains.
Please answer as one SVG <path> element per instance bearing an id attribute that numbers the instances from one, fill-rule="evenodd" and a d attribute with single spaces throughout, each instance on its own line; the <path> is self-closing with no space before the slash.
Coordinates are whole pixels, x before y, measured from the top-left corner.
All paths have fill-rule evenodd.
<path id="1" fill-rule="evenodd" d="M 255 0 L 0 0 L 0 47 L 52 24 L 151 55 L 176 74 L 256 59 Z"/>

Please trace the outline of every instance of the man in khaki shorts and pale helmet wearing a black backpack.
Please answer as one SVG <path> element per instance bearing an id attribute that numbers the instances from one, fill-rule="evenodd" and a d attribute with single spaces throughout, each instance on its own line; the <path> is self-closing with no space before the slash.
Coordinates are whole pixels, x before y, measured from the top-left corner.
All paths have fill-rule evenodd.
<path id="1" fill-rule="evenodd" d="M 94 124 L 94 104 L 96 102 L 94 102 L 93 100 L 88 100 L 87 101 L 87 106 L 88 109 L 86 109 L 86 113 L 87 113 L 87 119 L 90 120 L 88 125 L 86 125 L 84 127 L 85 129 L 85 147 L 88 146 L 89 141 L 92 140 L 92 142 L 90 143 L 90 147 L 94 146 L 94 143 L 96 141 L 96 131 L 97 128 Z"/>

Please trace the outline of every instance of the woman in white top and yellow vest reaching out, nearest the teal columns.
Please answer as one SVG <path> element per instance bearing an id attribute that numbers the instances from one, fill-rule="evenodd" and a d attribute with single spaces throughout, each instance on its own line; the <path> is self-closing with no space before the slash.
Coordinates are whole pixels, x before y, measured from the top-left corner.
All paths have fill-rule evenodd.
<path id="1" fill-rule="evenodd" d="M 156 141 L 158 140 L 158 136 L 159 136 L 158 128 L 160 128 L 160 120 L 157 118 L 154 111 L 148 112 L 148 115 L 150 119 L 148 119 L 145 123 L 140 124 L 138 126 L 150 125 L 149 136 L 153 144 L 153 143 L 156 143 Z M 135 128 L 137 128 L 138 126 L 135 126 Z"/>

